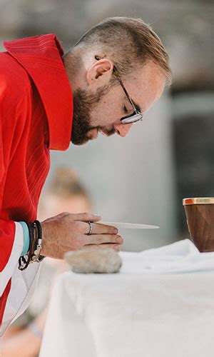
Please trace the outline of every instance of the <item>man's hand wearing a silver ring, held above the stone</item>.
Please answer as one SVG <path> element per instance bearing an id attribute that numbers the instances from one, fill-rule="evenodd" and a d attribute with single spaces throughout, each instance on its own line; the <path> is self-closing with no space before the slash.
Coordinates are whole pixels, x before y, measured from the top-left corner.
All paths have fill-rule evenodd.
<path id="1" fill-rule="evenodd" d="M 66 251 L 78 251 L 81 248 L 114 248 L 120 250 L 123 238 L 118 236 L 118 229 L 97 223 L 100 216 L 91 213 L 72 214 L 63 212 L 41 222 L 42 256 L 63 258 Z M 92 233 L 88 221 L 92 223 Z"/>

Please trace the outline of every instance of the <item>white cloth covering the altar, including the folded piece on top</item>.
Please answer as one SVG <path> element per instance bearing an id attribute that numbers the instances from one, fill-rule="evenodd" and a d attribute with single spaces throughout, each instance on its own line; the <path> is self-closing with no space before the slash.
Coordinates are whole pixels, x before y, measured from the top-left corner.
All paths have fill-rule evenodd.
<path id="1" fill-rule="evenodd" d="M 214 253 L 121 252 L 117 274 L 63 273 L 40 357 L 213 357 Z"/>

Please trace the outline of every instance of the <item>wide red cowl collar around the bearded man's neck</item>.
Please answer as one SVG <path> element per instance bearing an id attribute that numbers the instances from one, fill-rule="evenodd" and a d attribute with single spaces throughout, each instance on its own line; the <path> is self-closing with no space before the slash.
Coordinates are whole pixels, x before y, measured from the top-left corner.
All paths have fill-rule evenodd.
<path id="1" fill-rule="evenodd" d="M 36 84 L 49 123 L 49 149 L 66 150 L 71 141 L 73 99 L 56 35 L 5 41 L 4 47 Z"/>

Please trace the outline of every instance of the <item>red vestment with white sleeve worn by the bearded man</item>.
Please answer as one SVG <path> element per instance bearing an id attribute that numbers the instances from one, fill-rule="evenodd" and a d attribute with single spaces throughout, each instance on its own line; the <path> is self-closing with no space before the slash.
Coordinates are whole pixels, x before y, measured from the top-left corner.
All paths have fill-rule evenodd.
<path id="1" fill-rule="evenodd" d="M 0 336 L 24 312 L 39 263 L 19 271 L 23 231 L 34 221 L 49 150 L 71 140 L 73 101 L 54 34 L 4 42 L 0 53 Z"/>

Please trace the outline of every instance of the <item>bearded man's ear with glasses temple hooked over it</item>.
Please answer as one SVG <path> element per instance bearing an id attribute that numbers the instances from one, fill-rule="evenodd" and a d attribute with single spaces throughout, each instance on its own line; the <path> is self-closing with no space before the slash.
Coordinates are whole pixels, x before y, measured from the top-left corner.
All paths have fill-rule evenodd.
<path id="1" fill-rule="evenodd" d="M 110 59 L 99 59 L 88 69 L 86 80 L 89 86 L 108 84 L 113 72 L 113 62 Z"/>

